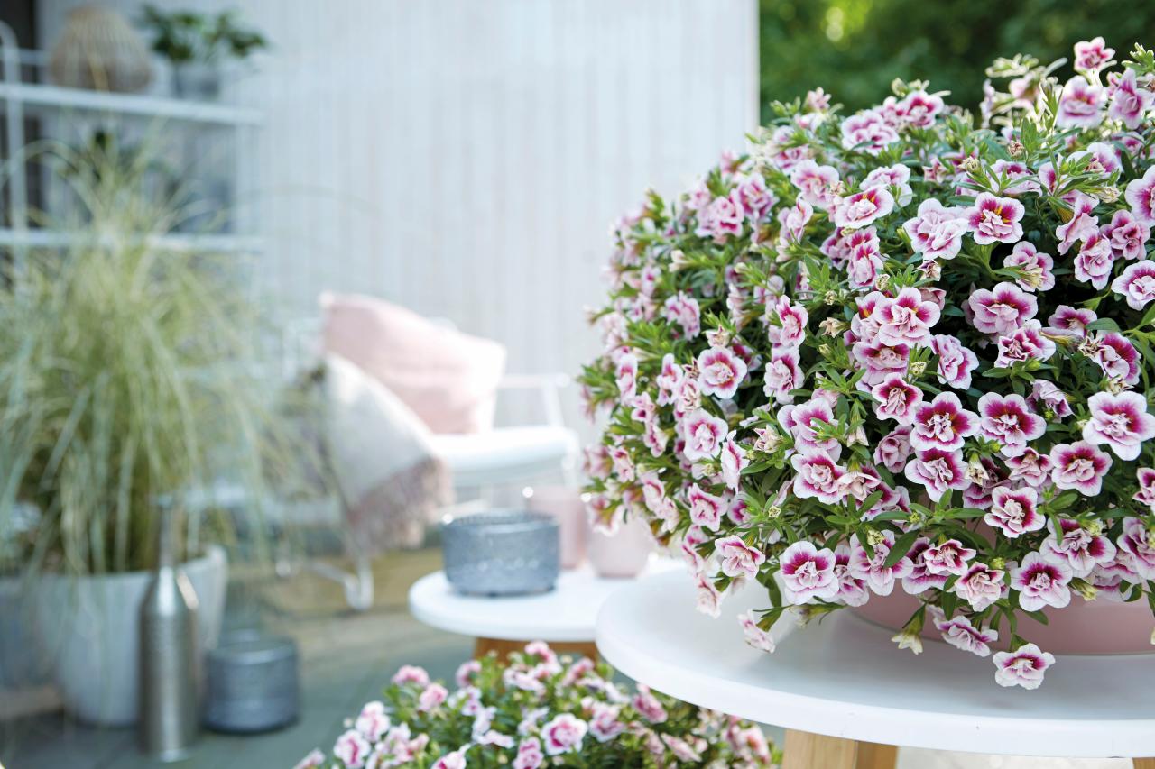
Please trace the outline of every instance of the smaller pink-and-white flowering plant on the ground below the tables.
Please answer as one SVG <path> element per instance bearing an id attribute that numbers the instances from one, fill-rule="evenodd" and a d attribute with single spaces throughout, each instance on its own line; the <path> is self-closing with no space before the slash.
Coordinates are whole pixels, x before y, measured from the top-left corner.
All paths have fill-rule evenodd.
<path id="1" fill-rule="evenodd" d="M 543 658 L 554 664 L 543 666 Z M 386 688 L 383 702 L 365 705 L 358 726 L 337 737 L 330 756 L 311 751 L 298 769 L 774 769 L 781 761 L 781 753 L 748 722 L 643 686 L 629 696 L 613 682 L 608 665 L 559 658 L 541 642 L 508 659 L 490 655 L 467 665 L 478 686 L 460 688 L 430 710 L 418 707 L 423 685 L 400 677 Z M 519 678 L 534 678 L 538 687 L 528 692 L 506 684 Z M 368 731 L 362 730 L 366 714 L 373 721 Z"/>

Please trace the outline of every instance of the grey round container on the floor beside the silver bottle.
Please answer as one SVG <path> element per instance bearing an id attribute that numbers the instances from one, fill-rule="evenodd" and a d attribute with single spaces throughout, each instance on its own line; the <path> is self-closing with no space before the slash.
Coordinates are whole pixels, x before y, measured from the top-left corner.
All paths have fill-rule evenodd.
<path id="1" fill-rule="evenodd" d="M 241 633 L 207 656 L 204 725 L 254 733 L 297 721 L 300 686 L 297 645 L 290 639 Z"/>

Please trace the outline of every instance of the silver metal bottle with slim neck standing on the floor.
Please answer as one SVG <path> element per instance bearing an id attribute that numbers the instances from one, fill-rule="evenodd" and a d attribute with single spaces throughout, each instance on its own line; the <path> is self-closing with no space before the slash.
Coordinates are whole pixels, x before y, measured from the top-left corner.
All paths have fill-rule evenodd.
<path id="1" fill-rule="evenodd" d="M 196 593 L 176 565 L 174 512 L 161 512 L 157 569 L 141 602 L 141 747 L 159 761 L 188 755 L 200 729 Z"/>

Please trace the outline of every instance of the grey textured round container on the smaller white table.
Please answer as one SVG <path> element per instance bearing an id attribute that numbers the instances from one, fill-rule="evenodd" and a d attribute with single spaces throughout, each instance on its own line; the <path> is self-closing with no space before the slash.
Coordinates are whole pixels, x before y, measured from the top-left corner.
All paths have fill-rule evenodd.
<path id="1" fill-rule="evenodd" d="M 553 589 L 560 569 L 558 522 L 528 510 L 494 510 L 441 527 L 445 575 L 470 596 L 523 596 Z"/>

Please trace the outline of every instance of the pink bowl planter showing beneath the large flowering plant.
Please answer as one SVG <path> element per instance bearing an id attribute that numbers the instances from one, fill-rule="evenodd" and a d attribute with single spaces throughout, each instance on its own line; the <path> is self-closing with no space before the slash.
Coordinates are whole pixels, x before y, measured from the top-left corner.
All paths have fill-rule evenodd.
<path id="1" fill-rule="evenodd" d="M 918 599 L 895 589 L 889 596 L 873 596 L 865 606 L 852 609 L 859 617 L 887 628 L 901 628 L 918 609 Z M 1152 629 L 1155 619 L 1146 600 L 1130 604 L 1100 598 L 1083 600 L 1071 597 L 1066 609 L 1049 609 L 1048 625 L 1036 622 L 1026 615 L 1019 618 L 1019 635 L 1040 648 L 1065 655 L 1124 655 L 1155 654 L 1152 645 Z M 1011 634 L 1006 622 L 1000 628 L 997 649 L 1009 645 Z M 923 628 L 923 637 L 942 636 L 929 620 Z"/>

